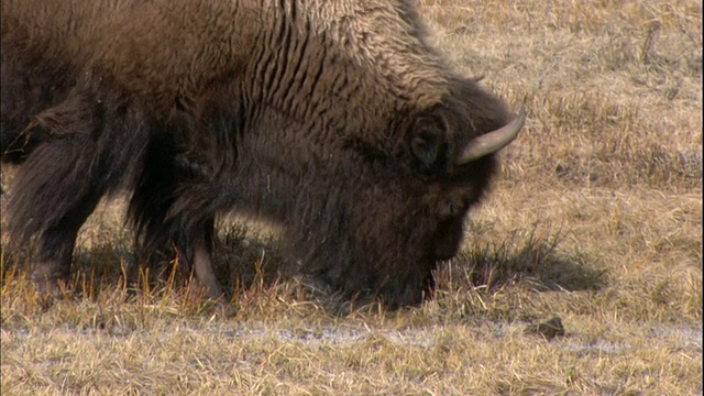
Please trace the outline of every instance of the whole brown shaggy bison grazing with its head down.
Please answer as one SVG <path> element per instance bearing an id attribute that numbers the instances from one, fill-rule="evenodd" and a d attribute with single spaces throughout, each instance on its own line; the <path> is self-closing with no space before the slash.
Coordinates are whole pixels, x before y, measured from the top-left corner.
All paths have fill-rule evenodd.
<path id="1" fill-rule="evenodd" d="M 408 0 L 2 0 L 10 233 L 69 274 L 98 201 L 131 193 L 140 260 L 212 296 L 213 219 L 284 226 L 295 271 L 421 301 L 520 130 L 452 72 Z"/>

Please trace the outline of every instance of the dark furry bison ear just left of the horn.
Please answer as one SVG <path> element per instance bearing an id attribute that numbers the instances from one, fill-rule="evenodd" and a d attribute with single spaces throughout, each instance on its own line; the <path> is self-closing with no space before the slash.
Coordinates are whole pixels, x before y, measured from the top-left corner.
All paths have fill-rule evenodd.
<path id="1" fill-rule="evenodd" d="M 410 130 L 409 148 L 414 163 L 422 173 L 444 167 L 447 124 L 439 117 L 419 117 Z"/>

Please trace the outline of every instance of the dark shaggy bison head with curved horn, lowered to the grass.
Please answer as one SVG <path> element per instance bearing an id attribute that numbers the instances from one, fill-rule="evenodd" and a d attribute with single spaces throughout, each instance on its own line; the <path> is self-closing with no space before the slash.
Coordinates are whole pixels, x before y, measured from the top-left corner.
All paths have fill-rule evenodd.
<path id="1" fill-rule="evenodd" d="M 494 154 L 524 119 L 512 121 L 499 100 L 458 80 L 441 102 L 393 120 L 402 136 L 393 148 L 348 142 L 300 185 L 304 205 L 288 221 L 298 271 L 360 301 L 420 302 L 438 262 L 460 249 L 465 217 L 496 172 Z"/>

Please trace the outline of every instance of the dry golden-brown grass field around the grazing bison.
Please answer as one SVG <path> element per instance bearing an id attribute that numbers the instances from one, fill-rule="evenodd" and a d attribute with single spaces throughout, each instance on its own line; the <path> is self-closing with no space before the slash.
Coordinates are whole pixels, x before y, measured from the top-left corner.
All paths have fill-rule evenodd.
<path id="1" fill-rule="evenodd" d="M 433 299 L 341 312 L 276 277 L 266 228 L 230 222 L 231 309 L 178 278 L 135 288 L 113 200 L 64 299 L 3 251 L 2 395 L 702 395 L 702 2 L 421 4 L 529 117 Z M 525 330 L 556 316 L 562 337 Z"/>

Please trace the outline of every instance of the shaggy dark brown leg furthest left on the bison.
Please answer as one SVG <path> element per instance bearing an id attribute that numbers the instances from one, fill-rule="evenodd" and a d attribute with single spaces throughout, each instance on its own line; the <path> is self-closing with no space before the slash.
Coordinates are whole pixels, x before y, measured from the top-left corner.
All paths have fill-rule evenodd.
<path id="1" fill-rule="evenodd" d="M 32 278 L 55 292 L 69 275 L 78 230 L 141 163 L 148 135 L 124 108 L 78 90 L 34 117 L 28 132 L 45 139 L 10 188 L 8 229 L 18 242 L 37 242 Z"/>

